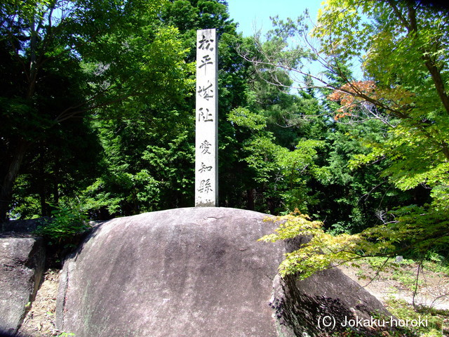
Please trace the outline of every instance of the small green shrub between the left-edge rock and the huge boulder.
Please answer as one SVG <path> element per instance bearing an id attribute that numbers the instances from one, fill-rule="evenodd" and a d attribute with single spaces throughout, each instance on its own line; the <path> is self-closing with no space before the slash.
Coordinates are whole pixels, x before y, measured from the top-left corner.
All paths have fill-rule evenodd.
<path id="1" fill-rule="evenodd" d="M 45 237 L 49 244 L 65 244 L 71 246 L 76 237 L 86 232 L 91 225 L 88 224 L 86 213 L 80 209 L 60 207 L 52 212 L 53 218 L 39 225 L 35 234 Z"/>

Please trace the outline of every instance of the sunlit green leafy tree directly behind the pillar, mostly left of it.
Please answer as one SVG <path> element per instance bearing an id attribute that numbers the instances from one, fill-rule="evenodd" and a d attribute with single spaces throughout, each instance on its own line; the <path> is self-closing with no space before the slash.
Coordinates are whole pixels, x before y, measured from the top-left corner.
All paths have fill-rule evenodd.
<path id="1" fill-rule="evenodd" d="M 93 123 L 102 146 L 101 173 L 80 197 L 93 218 L 193 206 L 196 29 L 213 23 L 220 37 L 220 111 L 229 111 L 230 105 L 236 105 L 234 100 L 243 99 L 227 90 L 239 91 L 237 86 L 243 84 L 246 71 L 234 69 L 240 61 L 232 48 L 235 25 L 228 18 L 226 6 L 217 1 L 166 1 L 161 21 L 154 22 L 157 29 L 151 31 L 156 34 L 157 48 L 141 46 L 145 39 L 133 41 L 147 62 L 146 71 L 154 72 L 154 63 L 163 65 L 156 77 L 168 88 L 159 93 L 154 87 L 151 98 L 143 102 L 133 99 L 126 106 L 109 107 L 102 114 L 119 119 L 100 118 Z M 160 39 L 158 32 L 164 32 Z M 177 54 L 173 54 L 175 51 Z M 176 79 L 182 83 L 173 82 Z M 220 130 L 220 137 L 225 135 Z M 226 146 L 226 142 L 220 141 L 220 146 Z M 226 162 L 220 159 L 220 163 Z M 234 163 L 229 161 L 230 165 Z M 227 180 L 226 185 L 232 185 L 232 181 Z"/>

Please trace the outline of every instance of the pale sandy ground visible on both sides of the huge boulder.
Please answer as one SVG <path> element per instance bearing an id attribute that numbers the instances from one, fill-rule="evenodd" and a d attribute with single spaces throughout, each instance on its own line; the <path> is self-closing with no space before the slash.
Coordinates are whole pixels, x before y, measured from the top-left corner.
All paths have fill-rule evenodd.
<path id="1" fill-rule="evenodd" d="M 342 266 L 341 270 L 376 296 L 382 303 L 391 296 L 402 298 L 413 303 L 413 275 L 417 265 L 406 265 L 401 268 L 401 275 L 410 275 L 407 279 L 394 276 L 394 272 L 377 272 L 368 265 L 360 268 Z M 375 279 L 373 277 L 377 275 Z M 427 305 L 436 309 L 449 310 L 449 277 L 442 273 L 428 270 L 420 271 L 422 280 L 415 295 L 415 304 Z M 55 308 L 58 294 L 59 270 L 51 269 L 44 275 L 41 287 L 32 303 L 19 332 L 23 337 L 60 336 L 61 331 L 55 328 Z M 66 335 L 67 336 L 67 335 Z"/>

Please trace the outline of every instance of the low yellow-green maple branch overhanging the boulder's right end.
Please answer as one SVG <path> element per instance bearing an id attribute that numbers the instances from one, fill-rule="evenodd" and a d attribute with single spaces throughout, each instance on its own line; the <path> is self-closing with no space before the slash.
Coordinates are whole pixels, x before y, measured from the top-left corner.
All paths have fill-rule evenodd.
<path id="1" fill-rule="evenodd" d="M 309 241 L 300 249 L 286 253 L 286 259 L 280 265 L 281 275 L 299 273 L 301 278 L 307 278 L 331 265 L 340 265 L 366 256 L 384 257 L 381 262 L 371 260 L 371 263 L 378 261 L 382 264 L 376 267 L 384 267 L 388 257 L 410 251 L 410 247 L 413 247 L 415 253 L 424 254 L 432 249 L 438 250 L 439 245 L 446 247 L 448 244 L 448 236 L 444 232 L 447 231 L 448 225 L 444 223 L 440 227 L 439 223 L 427 218 L 424 223 L 411 225 L 409 218 L 399 217 L 397 222 L 368 227 L 357 234 L 337 235 L 325 232 L 323 223 L 311 221 L 308 216 L 298 211 L 277 217 L 274 221 L 280 224 L 279 227 L 274 234 L 262 237 L 262 241 L 276 242 L 300 235 L 309 237 Z M 410 275 L 408 279 L 404 275 L 398 277 L 402 277 L 408 285 L 413 284 Z"/>

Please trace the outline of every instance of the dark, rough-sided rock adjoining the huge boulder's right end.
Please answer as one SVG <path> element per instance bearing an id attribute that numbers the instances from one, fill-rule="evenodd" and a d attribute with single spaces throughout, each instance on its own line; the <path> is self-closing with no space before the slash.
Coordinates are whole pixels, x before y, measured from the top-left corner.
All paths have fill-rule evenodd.
<path id="1" fill-rule="evenodd" d="M 279 336 L 285 337 L 328 336 L 348 328 L 371 336 L 375 331 L 365 322 L 379 314 L 391 315 L 377 298 L 337 267 L 302 281 L 278 275 L 270 305 L 275 310 Z"/>

